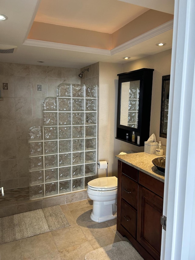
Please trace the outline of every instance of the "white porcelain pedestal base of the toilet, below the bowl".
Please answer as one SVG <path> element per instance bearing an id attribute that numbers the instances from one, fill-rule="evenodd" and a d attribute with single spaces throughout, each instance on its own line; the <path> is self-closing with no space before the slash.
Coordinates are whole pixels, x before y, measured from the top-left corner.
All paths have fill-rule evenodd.
<path id="1" fill-rule="evenodd" d="M 111 204 L 108 204 L 111 203 Z M 116 201 L 93 201 L 93 211 L 90 219 L 101 223 L 117 217 Z"/>

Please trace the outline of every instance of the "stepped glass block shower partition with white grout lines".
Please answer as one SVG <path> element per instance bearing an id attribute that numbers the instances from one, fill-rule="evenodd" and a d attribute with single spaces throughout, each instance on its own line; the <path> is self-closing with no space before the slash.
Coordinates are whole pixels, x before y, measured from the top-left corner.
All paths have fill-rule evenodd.
<path id="1" fill-rule="evenodd" d="M 83 190 L 97 173 L 97 86 L 60 84 L 28 132 L 30 200 Z"/>

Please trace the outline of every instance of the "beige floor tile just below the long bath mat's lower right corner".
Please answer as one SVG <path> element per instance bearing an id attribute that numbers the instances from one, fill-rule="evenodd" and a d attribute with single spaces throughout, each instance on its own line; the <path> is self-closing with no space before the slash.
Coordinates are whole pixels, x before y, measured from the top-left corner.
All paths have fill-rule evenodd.
<path id="1" fill-rule="evenodd" d="M 78 225 L 57 229 L 51 231 L 51 233 L 58 250 L 64 250 L 87 241 L 87 238 Z"/>

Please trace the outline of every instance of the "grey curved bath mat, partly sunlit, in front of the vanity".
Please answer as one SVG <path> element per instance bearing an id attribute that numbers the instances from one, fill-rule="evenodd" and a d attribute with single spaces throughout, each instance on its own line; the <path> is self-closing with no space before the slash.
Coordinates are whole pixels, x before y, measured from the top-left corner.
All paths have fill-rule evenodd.
<path id="1" fill-rule="evenodd" d="M 85 260 L 144 260 L 128 242 L 120 241 L 103 248 L 98 248 L 85 255 Z"/>

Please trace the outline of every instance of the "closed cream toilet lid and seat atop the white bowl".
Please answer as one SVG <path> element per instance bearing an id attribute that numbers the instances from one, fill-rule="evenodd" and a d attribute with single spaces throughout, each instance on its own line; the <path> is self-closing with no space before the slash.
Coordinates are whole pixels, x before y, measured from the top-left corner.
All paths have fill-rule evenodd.
<path id="1" fill-rule="evenodd" d="M 118 179 L 115 176 L 101 177 L 90 180 L 87 184 L 90 188 L 98 191 L 112 191 L 117 189 Z"/>

